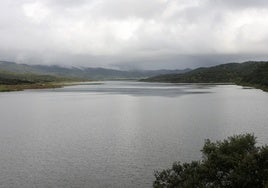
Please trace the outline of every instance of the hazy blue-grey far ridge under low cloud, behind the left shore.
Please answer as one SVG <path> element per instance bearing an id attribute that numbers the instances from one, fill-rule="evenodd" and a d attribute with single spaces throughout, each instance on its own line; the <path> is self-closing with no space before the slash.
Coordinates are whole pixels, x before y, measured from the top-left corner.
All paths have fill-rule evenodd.
<path id="1" fill-rule="evenodd" d="M 62 67 L 58 65 L 27 65 L 0 61 L 0 72 L 5 71 L 16 74 L 50 75 L 85 80 L 141 79 L 162 74 L 185 73 L 190 70 L 191 69 L 122 71 L 106 68 Z"/>

